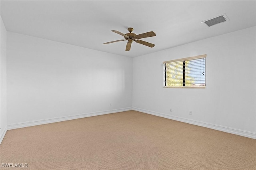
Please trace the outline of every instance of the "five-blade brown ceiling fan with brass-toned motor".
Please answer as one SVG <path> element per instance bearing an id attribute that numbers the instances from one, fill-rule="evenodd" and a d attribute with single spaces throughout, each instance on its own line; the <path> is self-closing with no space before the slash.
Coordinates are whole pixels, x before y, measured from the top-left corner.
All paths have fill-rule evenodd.
<path id="1" fill-rule="evenodd" d="M 147 38 L 147 37 L 153 37 L 153 36 L 156 36 L 156 33 L 151 31 L 151 32 L 146 32 L 146 33 L 143 33 L 143 34 L 136 35 L 136 34 L 132 33 L 133 28 L 128 28 L 128 31 L 130 33 L 123 34 L 122 32 L 112 30 L 112 32 L 114 32 L 116 34 L 119 34 L 121 36 L 124 36 L 124 40 L 116 40 L 116 41 L 112 41 L 112 42 L 106 42 L 106 43 L 103 43 L 103 44 L 108 44 L 108 43 L 120 42 L 120 41 L 127 40 L 128 43 L 126 44 L 125 51 L 130 51 L 131 45 L 132 45 L 132 41 L 135 41 L 136 43 L 140 43 L 140 44 L 146 45 L 148 47 L 154 47 L 155 46 L 155 44 L 152 44 L 152 43 L 149 43 L 149 42 L 144 42 L 144 41 L 138 40 L 138 39 Z"/>

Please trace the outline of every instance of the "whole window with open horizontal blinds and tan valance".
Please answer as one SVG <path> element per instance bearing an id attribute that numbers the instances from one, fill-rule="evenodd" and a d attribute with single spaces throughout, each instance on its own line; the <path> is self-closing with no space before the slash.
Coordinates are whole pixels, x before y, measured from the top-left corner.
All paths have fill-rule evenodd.
<path id="1" fill-rule="evenodd" d="M 164 87 L 205 88 L 205 55 L 164 61 Z"/>

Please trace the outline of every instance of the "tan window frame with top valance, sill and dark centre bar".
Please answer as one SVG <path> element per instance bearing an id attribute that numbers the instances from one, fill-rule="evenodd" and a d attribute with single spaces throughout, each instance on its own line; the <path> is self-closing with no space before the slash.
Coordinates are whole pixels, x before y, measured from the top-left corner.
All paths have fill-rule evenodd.
<path id="1" fill-rule="evenodd" d="M 193 56 L 193 57 L 186 57 L 186 58 L 181 58 L 181 59 L 174 59 L 174 60 L 169 60 L 169 61 L 164 61 L 163 62 L 163 66 L 164 66 L 164 88 L 185 88 L 185 89 L 205 89 L 206 88 L 206 77 L 205 77 L 205 85 L 204 86 L 167 86 L 166 87 L 166 63 L 173 63 L 173 62 L 177 62 L 177 61 L 183 61 L 183 65 L 185 61 L 189 61 L 189 60 L 194 60 L 194 59 L 201 59 L 201 58 L 205 58 L 206 59 L 206 54 L 204 55 L 197 55 L 197 56 Z M 185 79 L 185 74 L 184 74 L 184 67 L 183 67 L 183 85 L 186 81 Z M 205 69 L 206 69 L 206 62 L 205 62 Z"/>

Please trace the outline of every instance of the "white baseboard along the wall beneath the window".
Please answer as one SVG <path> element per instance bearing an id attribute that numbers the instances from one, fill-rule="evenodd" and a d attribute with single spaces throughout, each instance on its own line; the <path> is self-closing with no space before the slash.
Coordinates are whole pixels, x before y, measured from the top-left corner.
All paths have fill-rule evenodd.
<path id="1" fill-rule="evenodd" d="M 248 138 L 256 139 L 256 133 L 255 132 L 249 132 L 249 131 L 246 131 L 246 130 L 224 127 L 224 126 L 221 126 L 221 125 L 215 125 L 215 124 L 212 124 L 212 123 L 206 123 L 206 122 L 202 122 L 202 121 L 196 121 L 196 120 L 177 117 L 177 116 L 172 116 L 172 115 L 166 115 L 166 114 L 163 114 L 163 113 L 157 113 L 157 112 L 154 112 L 154 111 L 148 111 L 148 110 L 139 109 L 139 108 L 136 108 L 136 107 L 133 107 L 132 110 L 143 112 L 143 113 L 148 113 L 150 115 L 155 115 L 155 116 L 159 116 L 159 117 L 164 117 L 164 118 L 167 118 L 167 119 L 172 119 L 172 120 L 175 120 L 175 121 L 189 123 L 189 124 L 192 124 L 192 125 L 198 125 L 198 126 L 201 126 L 201 127 L 212 128 L 212 129 L 215 129 L 215 130 L 220 130 L 220 131 L 223 131 L 223 132 L 228 132 L 228 133 L 237 134 L 237 135 L 240 135 L 240 136 L 245 136 L 245 137 L 248 137 Z"/>

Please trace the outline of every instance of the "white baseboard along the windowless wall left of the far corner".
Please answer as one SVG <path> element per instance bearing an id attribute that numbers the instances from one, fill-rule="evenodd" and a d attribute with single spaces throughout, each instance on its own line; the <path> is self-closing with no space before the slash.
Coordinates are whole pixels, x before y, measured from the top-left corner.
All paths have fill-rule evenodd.
<path id="1" fill-rule="evenodd" d="M 41 120 L 36 120 L 36 121 L 12 123 L 12 124 L 7 125 L 7 129 L 11 130 L 11 129 L 15 129 L 15 128 L 31 127 L 31 126 L 36 126 L 36 125 L 43 125 L 43 124 L 55 123 L 55 122 L 61 122 L 61 121 L 69 121 L 72 119 L 80 119 L 80 118 L 84 118 L 84 117 L 105 115 L 105 114 L 130 111 L 130 110 L 132 110 L 132 107 L 127 107 L 127 108 L 122 108 L 122 109 L 114 109 L 114 110 L 109 110 L 109 111 L 84 113 L 84 114 L 80 114 L 80 115 L 55 117 L 55 118 L 50 118 L 50 119 L 41 119 Z M 1 136 L 1 139 L 2 139 L 2 136 Z"/>

